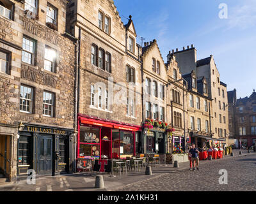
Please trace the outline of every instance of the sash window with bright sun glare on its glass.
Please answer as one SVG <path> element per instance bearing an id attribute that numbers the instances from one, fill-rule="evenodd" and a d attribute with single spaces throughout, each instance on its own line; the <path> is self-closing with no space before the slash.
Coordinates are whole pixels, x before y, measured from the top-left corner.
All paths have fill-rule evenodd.
<path id="1" fill-rule="evenodd" d="M 55 66 L 56 66 L 56 50 L 45 45 L 44 69 L 47 71 L 55 72 Z"/>

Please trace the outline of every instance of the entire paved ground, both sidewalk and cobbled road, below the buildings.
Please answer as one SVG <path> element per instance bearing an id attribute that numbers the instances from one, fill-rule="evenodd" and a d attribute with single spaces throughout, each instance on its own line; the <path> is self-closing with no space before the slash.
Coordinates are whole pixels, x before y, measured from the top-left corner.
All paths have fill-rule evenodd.
<path id="1" fill-rule="evenodd" d="M 26 180 L 7 183 L 0 185 L 0 191 L 256 191 L 256 154 L 243 150 L 239 156 L 239 150 L 233 152 L 234 157 L 200 161 L 199 171 L 189 171 L 189 163 L 180 163 L 179 168 L 173 164 L 153 166 L 153 175 L 145 175 L 145 169 L 116 177 L 105 174 L 104 189 L 94 188 L 96 174 L 72 173 L 36 177 L 36 184 Z M 221 169 L 227 170 L 227 185 L 218 182 Z"/>

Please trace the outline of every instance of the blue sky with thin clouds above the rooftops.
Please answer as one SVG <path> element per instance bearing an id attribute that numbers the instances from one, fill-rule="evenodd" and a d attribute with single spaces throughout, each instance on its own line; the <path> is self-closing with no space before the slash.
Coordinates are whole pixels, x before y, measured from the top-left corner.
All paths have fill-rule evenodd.
<path id="1" fill-rule="evenodd" d="M 214 55 L 221 81 L 237 98 L 256 89 L 256 0 L 114 0 L 145 41 L 157 40 L 164 61 L 169 50 L 194 44 L 197 59 Z M 219 17 L 227 4 L 228 18 Z"/>

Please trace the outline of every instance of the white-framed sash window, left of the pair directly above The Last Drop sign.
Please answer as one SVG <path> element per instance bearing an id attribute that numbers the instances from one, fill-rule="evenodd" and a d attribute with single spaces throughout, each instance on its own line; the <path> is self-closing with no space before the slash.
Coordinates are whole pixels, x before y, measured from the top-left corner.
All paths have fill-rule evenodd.
<path id="1" fill-rule="evenodd" d="M 20 112 L 32 113 L 33 88 L 20 85 Z"/>

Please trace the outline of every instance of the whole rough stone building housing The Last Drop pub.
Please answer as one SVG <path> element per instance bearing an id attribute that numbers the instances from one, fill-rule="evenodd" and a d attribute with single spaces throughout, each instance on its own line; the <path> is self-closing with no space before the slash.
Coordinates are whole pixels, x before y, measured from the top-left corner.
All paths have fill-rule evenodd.
<path id="1" fill-rule="evenodd" d="M 66 1 L 0 1 L 0 169 L 72 171 L 76 45 Z"/>

